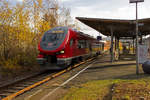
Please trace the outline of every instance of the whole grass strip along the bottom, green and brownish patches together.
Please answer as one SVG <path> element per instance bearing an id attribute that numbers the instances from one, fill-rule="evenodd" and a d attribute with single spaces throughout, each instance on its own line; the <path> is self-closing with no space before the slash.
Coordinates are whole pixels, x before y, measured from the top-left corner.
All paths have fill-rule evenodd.
<path id="1" fill-rule="evenodd" d="M 92 81 L 70 88 L 60 100 L 148 100 L 148 82 L 147 79 Z"/>

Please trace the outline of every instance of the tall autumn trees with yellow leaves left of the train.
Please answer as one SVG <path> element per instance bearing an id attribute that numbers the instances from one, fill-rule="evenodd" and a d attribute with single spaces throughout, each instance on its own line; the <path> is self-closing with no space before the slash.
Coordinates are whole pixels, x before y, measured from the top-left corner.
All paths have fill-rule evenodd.
<path id="1" fill-rule="evenodd" d="M 1 0 L 1 64 L 11 69 L 16 64 L 31 64 L 36 61 L 37 45 L 44 32 L 62 25 L 62 22 L 69 22 L 69 10 L 59 8 L 57 0 L 24 0 L 16 5 L 11 4 L 10 0 Z M 63 13 L 65 20 L 58 17 Z"/>

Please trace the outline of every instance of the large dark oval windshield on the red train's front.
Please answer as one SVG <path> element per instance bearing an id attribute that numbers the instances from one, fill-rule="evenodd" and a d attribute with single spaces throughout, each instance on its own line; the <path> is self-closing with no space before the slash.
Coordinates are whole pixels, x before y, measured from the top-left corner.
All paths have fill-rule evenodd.
<path id="1" fill-rule="evenodd" d="M 40 43 L 44 50 L 55 50 L 57 49 L 65 39 L 67 29 L 64 27 L 56 27 L 45 32 L 42 41 Z"/>

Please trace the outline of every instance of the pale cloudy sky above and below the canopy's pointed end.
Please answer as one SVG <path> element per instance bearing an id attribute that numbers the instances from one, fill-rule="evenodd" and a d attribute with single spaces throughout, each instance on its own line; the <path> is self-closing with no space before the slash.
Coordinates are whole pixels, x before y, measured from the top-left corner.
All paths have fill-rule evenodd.
<path id="1" fill-rule="evenodd" d="M 16 0 L 21 2 L 22 0 Z M 59 0 L 71 16 L 89 18 L 135 19 L 135 4 L 129 0 Z M 138 18 L 150 18 L 150 0 L 138 4 Z M 99 33 L 79 22 L 81 31 L 96 37 Z"/>

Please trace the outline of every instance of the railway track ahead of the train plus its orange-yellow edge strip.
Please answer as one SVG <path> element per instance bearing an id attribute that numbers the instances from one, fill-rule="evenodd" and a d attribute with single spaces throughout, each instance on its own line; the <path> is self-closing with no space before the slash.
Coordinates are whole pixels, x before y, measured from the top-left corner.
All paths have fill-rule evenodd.
<path id="1" fill-rule="evenodd" d="M 5 87 L 0 88 L 0 100 L 12 100 L 18 95 L 23 94 L 26 91 L 31 90 L 67 71 L 70 71 L 73 68 L 76 68 L 86 62 L 93 60 L 94 58 L 88 59 L 86 61 L 80 62 L 79 64 L 73 65 L 59 72 L 46 71 L 37 76 L 24 79 L 22 81 L 9 84 Z"/>

